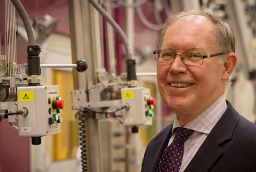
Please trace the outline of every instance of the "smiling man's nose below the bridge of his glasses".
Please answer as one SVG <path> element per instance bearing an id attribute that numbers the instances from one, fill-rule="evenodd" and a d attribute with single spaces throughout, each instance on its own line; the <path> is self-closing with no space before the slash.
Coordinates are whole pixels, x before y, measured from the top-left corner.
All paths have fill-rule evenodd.
<path id="1" fill-rule="evenodd" d="M 175 54 L 175 59 L 170 66 L 169 72 L 173 74 L 186 73 L 187 67 L 182 62 L 180 54 Z"/>

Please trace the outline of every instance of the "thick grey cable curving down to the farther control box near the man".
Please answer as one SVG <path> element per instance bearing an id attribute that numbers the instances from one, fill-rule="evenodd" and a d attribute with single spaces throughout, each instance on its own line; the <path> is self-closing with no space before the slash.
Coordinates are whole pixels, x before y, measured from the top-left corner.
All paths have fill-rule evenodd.
<path id="1" fill-rule="evenodd" d="M 104 19 L 106 19 L 109 24 L 111 24 L 111 26 L 115 29 L 115 31 L 118 33 L 118 35 L 120 36 L 121 40 L 123 41 L 123 44 L 125 46 L 125 50 L 127 52 L 127 58 L 128 59 L 133 59 L 132 56 L 132 51 L 131 51 L 131 47 L 129 45 L 129 41 L 124 33 L 124 31 L 120 28 L 120 26 L 117 24 L 117 22 L 115 22 L 111 16 L 109 16 L 107 14 L 107 12 L 94 0 L 89 0 L 89 2 L 96 8 L 97 11 L 99 11 L 99 13 L 104 17 Z"/>

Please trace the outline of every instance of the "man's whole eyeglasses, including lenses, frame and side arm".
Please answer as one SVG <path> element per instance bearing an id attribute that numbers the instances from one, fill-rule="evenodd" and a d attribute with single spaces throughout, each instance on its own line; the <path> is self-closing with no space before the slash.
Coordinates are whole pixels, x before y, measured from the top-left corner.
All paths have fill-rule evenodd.
<path id="1" fill-rule="evenodd" d="M 157 62 L 161 63 L 173 63 L 174 59 L 176 56 L 181 57 L 181 62 L 185 65 L 191 65 L 191 66 L 197 66 L 197 65 L 202 65 L 204 62 L 204 58 L 209 58 L 209 57 L 215 57 L 215 56 L 220 56 L 225 53 L 217 53 L 217 54 L 210 54 L 210 55 L 205 55 L 200 53 L 181 53 L 181 54 L 175 54 L 172 51 L 166 51 L 166 50 L 156 50 L 154 51 L 155 58 Z"/>

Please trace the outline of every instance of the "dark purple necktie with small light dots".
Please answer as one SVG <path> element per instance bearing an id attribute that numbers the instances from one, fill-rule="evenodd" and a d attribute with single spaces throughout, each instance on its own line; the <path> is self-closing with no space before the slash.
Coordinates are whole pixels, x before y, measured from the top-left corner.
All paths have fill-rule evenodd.
<path id="1" fill-rule="evenodd" d="M 193 133 L 187 128 L 177 128 L 173 142 L 164 150 L 158 171 L 159 172 L 178 172 L 182 162 L 184 152 L 184 142 Z"/>

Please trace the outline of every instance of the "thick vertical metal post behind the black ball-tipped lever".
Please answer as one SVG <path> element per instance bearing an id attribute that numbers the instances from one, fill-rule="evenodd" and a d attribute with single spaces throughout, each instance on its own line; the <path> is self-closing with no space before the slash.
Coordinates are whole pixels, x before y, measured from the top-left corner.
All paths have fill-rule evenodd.
<path id="1" fill-rule="evenodd" d="M 100 17 L 89 1 L 82 0 L 69 0 L 69 13 L 73 63 L 84 59 L 88 64 L 88 69 L 84 73 L 77 73 L 74 70 L 74 89 L 88 89 L 97 82 L 96 70 L 103 68 Z M 87 133 L 89 171 L 102 171 L 99 122 L 90 118 L 84 124 Z"/>

